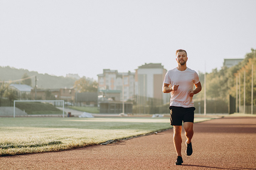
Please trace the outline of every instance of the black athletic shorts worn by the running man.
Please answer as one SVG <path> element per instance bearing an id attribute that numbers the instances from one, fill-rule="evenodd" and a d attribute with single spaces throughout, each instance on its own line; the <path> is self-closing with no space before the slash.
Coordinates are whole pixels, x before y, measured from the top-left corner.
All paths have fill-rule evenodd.
<path id="1" fill-rule="evenodd" d="M 183 122 L 194 123 L 194 107 L 176 107 L 170 106 L 171 125 L 181 126 Z"/>

